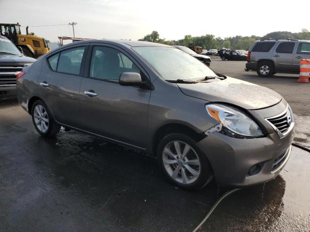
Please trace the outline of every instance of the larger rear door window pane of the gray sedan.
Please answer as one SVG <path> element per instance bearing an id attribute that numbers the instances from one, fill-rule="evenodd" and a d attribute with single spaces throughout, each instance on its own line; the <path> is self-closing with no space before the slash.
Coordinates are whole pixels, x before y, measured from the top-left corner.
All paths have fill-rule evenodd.
<path id="1" fill-rule="evenodd" d="M 85 47 L 75 47 L 62 51 L 57 71 L 61 73 L 79 74 Z"/>

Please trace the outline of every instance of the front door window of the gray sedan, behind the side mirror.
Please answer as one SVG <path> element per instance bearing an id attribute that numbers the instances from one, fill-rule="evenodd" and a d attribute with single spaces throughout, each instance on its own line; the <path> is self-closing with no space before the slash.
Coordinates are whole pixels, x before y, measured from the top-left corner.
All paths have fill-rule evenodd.
<path id="1" fill-rule="evenodd" d="M 140 73 L 140 69 L 120 51 L 104 46 L 94 46 L 90 77 L 119 81 L 124 72 Z"/>

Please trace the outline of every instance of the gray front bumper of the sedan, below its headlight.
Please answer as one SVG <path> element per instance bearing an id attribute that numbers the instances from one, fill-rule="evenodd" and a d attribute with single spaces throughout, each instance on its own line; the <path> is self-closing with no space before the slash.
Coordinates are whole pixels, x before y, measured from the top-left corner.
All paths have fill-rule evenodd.
<path id="1" fill-rule="evenodd" d="M 293 143 L 294 128 L 283 138 L 274 132 L 263 138 L 237 139 L 214 132 L 198 142 L 213 168 L 220 186 L 245 187 L 274 179 L 285 166 Z M 274 168 L 277 158 L 286 154 Z M 255 164 L 262 164 L 259 173 L 248 175 Z"/>

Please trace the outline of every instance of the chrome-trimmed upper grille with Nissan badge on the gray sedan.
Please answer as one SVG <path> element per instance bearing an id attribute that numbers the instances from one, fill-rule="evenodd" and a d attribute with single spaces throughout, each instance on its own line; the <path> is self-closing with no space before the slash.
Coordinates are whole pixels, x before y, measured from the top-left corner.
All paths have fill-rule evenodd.
<path id="1" fill-rule="evenodd" d="M 278 132 L 280 137 L 285 136 L 294 126 L 294 118 L 289 107 L 281 114 L 268 117 L 266 120 Z"/>

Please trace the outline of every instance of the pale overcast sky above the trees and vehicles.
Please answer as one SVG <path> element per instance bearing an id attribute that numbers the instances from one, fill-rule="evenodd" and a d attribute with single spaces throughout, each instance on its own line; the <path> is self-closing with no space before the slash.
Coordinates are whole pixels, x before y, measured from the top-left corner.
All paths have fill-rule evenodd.
<path id="1" fill-rule="evenodd" d="M 177 40 L 186 34 L 224 38 L 310 30 L 309 9 L 310 0 L 0 0 L 0 21 L 22 26 L 77 22 L 76 37 L 93 39 L 138 40 L 157 30 L 161 38 Z M 72 26 L 29 30 L 51 42 L 73 35 Z"/>

